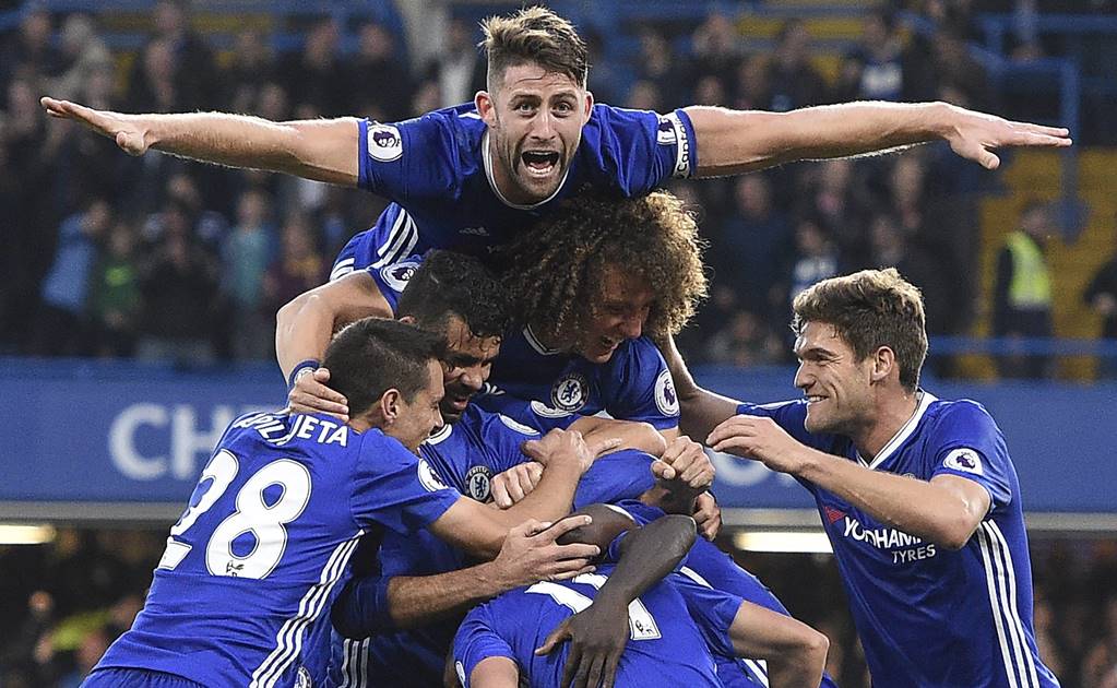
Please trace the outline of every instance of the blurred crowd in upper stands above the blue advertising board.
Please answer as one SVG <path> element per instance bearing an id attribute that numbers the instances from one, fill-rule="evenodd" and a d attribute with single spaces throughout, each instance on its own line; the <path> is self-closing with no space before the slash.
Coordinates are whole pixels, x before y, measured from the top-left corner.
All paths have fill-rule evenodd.
<path id="1" fill-rule="evenodd" d="M 676 48 L 678 27 L 649 23 L 631 64 L 595 60 L 591 88 L 599 101 L 660 112 L 687 104 L 787 111 L 857 98 L 986 105 L 982 70 L 952 21 L 944 18 L 935 40 L 904 41 L 890 12 L 871 13 L 833 80 L 809 59 L 812 38 L 799 20 L 782 27 L 774 49 L 748 51 L 734 22 L 713 15 L 693 28 L 686 54 Z M 0 37 L 0 238 L 8 247 L 0 353 L 268 359 L 277 307 L 321 284 L 338 248 L 383 207 L 371 194 L 280 175 L 132 159 L 112 141 L 48 121 L 40 95 L 123 112 L 393 121 L 468 101 L 484 85 L 477 30 L 464 20 L 450 22 L 445 49 L 427 65 L 409 64 L 401 37 L 374 22 L 318 19 L 306 27 L 304 48 L 284 54 L 252 29 L 218 52 L 191 26 L 187 4 L 164 0 L 134 54 L 109 51 L 97 18 L 82 15 L 28 11 Z M 350 51 L 343 29 L 355 37 Z M 634 78 L 618 78 L 622 71 Z M 687 331 L 685 352 L 695 363 L 783 361 L 799 289 L 885 265 L 924 289 L 933 334 L 963 332 L 975 312 L 975 203 L 990 179 L 932 145 L 676 183 L 701 218 L 713 271 L 713 297 Z"/>

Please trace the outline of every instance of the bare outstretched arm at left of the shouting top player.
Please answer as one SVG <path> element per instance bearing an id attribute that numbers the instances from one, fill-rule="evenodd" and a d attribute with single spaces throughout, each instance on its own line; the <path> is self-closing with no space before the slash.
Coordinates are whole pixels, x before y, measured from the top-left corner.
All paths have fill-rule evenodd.
<path id="1" fill-rule="evenodd" d="M 130 115 L 50 97 L 40 103 L 50 116 L 78 122 L 114 140 L 130 155 L 154 149 L 345 187 L 357 182 L 359 128 L 354 117 L 270 122 L 226 113 Z"/>

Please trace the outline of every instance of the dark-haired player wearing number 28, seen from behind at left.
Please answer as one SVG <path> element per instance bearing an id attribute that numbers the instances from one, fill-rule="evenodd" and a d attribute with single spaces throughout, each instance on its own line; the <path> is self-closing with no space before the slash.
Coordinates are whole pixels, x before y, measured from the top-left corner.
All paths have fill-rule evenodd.
<path id="1" fill-rule="evenodd" d="M 509 525 L 565 515 L 592 461 L 575 432 L 525 446 L 547 464 L 554 494 L 512 518 L 446 488 L 417 459 L 441 426 L 442 347 L 404 323 L 359 321 L 326 351 L 333 383 L 353 404 L 347 423 L 286 412 L 233 421 L 171 528 L 144 610 L 86 685 L 319 685 L 322 612 L 366 531 L 426 527 L 491 557 L 523 545 L 514 541 L 527 534 L 509 539 Z M 595 552 L 552 555 L 561 573 Z"/>

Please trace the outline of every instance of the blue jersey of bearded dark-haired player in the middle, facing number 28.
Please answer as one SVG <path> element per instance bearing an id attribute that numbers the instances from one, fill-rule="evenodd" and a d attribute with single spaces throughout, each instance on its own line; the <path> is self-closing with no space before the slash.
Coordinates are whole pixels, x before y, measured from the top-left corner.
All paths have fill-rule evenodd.
<path id="1" fill-rule="evenodd" d="M 461 418 L 420 446 L 424 471 L 478 501 L 491 497 L 495 475 L 522 464 L 524 441 L 540 433 L 506 415 L 469 404 Z M 634 499 L 650 489 L 652 457 L 632 450 L 605 455 L 579 484 L 575 508 L 601 501 Z M 404 687 L 438 685 L 456 624 L 441 622 L 401 631 L 388 613 L 388 582 L 399 575 L 431 575 L 468 566 L 459 550 L 429 532 L 407 536 L 386 533 L 381 543 L 380 575 L 356 582 L 360 592 L 346 598 L 341 613 L 375 631 L 372 638 L 345 640 L 335 633 L 331 676 L 334 685 Z M 337 613 L 337 612 L 335 612 Z"/>

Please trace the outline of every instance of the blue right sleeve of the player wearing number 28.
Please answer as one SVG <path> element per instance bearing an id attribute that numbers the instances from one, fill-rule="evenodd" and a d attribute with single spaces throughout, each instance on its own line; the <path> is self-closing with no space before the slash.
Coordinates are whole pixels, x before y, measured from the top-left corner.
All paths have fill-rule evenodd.
<path id="1" fill-rule="evenodd" d="M 360 439 L 351 505 L 361 527 L 381 524 L 407 535 L 435 523 L 462 498 L 394 439 L 379 430 Z"/>

